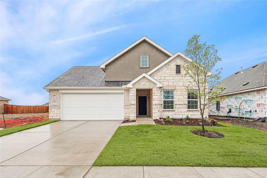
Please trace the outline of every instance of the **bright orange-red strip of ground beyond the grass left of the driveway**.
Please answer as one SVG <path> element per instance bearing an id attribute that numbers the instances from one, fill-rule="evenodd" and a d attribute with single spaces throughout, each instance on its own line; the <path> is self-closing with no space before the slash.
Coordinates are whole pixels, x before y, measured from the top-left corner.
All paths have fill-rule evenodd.
<path id="1" fill-rule="evenodd" d="M 9 119 L 9 120 L 5 120 L 5 123 L 6 123 L 6 128 L 11 128 L 11 127 L 17 127 L 21 125 L 45 122 L 48 120 L 49 120 L 49 114 L 44 114 L 44 115 L 39 115 L 39 116 Z M 4 120 L 0 121 L 0 128 L 5 128 Z"/>

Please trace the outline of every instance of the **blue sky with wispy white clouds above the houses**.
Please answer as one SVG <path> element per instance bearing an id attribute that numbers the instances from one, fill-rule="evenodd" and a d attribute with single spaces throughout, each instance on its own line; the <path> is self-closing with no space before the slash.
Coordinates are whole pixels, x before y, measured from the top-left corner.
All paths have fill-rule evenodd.
<path id="1" fill-rule="evenodd" d="M 1 96 L 48 102 L 72 66 L 98 66 L 142 36 L 171 53 L 201 34 L 225 78 L 267 61 L 267 1 L 1 1 Z"/>

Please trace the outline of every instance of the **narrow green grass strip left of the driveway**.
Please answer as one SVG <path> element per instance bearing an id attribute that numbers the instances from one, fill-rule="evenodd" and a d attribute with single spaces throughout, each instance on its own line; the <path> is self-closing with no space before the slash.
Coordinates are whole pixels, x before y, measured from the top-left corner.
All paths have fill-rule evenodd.
<path id="1" fill-rule="evenodd" d="M 12 127 L 12 128 L 6 128 L 6 129 L 3 129 L 3 130 L 0 130 L 0 136 L 13 134 L 15 132 L 24 131 L 24 130 L 27 130 L 29 128 L 39 127 L 41 125 L 46 125 L 46 124 L 50 124 L 50 123 L 53 123 L 53 122 L 57 122 L 57 120 L 46 121 L 46 122 L 42 122 L 42 123 L 29 124 L 29 125 L 23 125 L 23 126 Z"/>

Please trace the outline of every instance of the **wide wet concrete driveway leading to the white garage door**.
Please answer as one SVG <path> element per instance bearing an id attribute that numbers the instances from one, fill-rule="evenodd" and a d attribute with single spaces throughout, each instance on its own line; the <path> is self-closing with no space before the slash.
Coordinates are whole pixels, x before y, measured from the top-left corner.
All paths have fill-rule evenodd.
<path id="1" fill-rule="evenodd" d="M 0 138 L 0 177 L 83 177 L 121 120 L 58 121 Z"/>

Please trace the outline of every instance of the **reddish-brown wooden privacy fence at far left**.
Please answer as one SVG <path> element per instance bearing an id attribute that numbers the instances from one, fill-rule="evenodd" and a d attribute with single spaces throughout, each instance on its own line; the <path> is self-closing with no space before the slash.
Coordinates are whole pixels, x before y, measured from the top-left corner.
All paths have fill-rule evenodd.
<path id="1" fill-rule="evenodd" d="M 5 104 L 5 114 L 26 114 L 26 113 L 46 113 L 49 106 L 17 106 Z"/>

